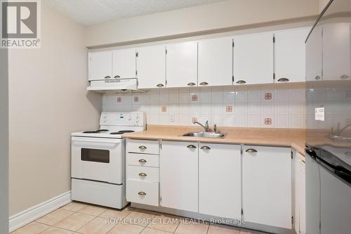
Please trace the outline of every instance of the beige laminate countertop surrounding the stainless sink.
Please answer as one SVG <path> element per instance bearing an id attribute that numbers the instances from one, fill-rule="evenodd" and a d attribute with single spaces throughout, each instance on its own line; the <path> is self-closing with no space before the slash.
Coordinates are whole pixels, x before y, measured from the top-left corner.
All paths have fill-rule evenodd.
<path id="1" fill-rule="evenodd" d="M 269 145 L 295 148 L 305 155 L 305 129 L 266 129 L 266 128 L 218 128 L 227 133 L 225 138 L 199 138 L 180 136 L 190 131 L 202 131 L 194 126 L 148 125 L 147 130 L 124 134 L 126 138 L 168 141 L 200 141 L 207 143 L 232 143 L 246 145 Z"/>

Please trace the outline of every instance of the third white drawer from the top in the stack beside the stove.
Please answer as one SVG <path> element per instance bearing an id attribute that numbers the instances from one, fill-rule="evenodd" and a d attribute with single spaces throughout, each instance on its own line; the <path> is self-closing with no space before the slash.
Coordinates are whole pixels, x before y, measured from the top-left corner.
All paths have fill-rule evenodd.
<path id="1" fill-rule="evenodd" d="M 127 179 L 159 182 L 159 169 L 157 167 L 127 166 Z"/>

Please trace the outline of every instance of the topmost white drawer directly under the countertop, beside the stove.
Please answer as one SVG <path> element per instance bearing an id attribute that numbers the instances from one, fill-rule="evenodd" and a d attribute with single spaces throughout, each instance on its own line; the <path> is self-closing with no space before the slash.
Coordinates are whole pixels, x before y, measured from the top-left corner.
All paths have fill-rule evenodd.
<path id="1" fill-rule="evenodd" d="M 143 154 L 159 154 L 159 141 L 132 140 L 127 141 L 127 152 L 140 152 Z"/>

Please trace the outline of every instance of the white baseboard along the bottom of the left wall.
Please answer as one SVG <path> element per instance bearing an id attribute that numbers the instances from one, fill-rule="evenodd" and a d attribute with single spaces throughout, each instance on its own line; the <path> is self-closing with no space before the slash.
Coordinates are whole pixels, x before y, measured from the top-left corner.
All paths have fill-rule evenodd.
<path id="1" fill-rule="evenodd" d="M 37 204 L 34 207 L 30 207 L 22 212 L 14 214 L 13 216 L 10 216 L 8 223 L 9 230 L 12 232 L 13 230 L 21 228 L 22 226 L 39 219 L 41 216 L 53 212 L 55 209 L 58 209 L 71 201 L 71 191 L 68 191 L 67 193 L 62 193 L 57 197 L 53 197 L 50 200 L 42 202 L 41 204 Z"/>

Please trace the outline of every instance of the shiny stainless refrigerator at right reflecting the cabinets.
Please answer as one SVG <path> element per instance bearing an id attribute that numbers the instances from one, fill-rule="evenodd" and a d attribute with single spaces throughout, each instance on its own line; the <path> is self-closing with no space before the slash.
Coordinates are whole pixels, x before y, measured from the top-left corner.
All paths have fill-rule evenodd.
<path id="1" fill-rule="evenodd" d="M 351 0 L 306 40 L 306 233 L 351 233 Z"/>

